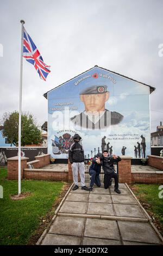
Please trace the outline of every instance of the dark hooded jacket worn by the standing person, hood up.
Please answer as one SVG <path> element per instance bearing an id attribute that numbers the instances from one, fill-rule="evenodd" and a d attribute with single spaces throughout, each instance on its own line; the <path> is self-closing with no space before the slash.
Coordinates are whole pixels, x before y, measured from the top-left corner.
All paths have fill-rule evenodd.
<path id="1" fill-rule="evenodd" d="M 73 139 L 80 138 L 82 139 L 78 133 L 73 136 Z M 71 163 L 80 163 L 84 162 L 84 149 L 79 142 L 74 142 L 71 144 L 70 149 L 68 150 L 68 158 Z"/>

